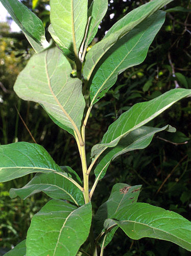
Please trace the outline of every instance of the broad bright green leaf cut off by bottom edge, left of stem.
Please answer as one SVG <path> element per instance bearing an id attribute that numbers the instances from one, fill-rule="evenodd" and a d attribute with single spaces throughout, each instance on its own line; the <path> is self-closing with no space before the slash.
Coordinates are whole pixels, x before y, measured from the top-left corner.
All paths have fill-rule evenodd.
<path id="1" fill-rule="evenodd" d="M 34 215 L 27 233 L 27 256 L 75 256 L 88 237 L 91 204 L 77 208 L 51 200 Z"/>

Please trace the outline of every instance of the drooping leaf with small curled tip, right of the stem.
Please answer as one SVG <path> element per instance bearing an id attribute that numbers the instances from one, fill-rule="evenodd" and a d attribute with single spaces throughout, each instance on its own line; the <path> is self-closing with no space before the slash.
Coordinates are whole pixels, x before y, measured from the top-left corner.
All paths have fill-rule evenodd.
<path id="1" fill-rule="evenodd" d="M 162 128 L 142 126 L 124 136 L 115 147 L 108 147 L 107 150 L 104 151 L 99 158 L 98 164 L 94 170 L 96 178 L 102 179 L 105 176 L 110 162 L 113 161 L 116 157 L 129 151 L 141 150 L 142 148 L 147 147 L 151 143 L 155 133 L 159 133 L 164 130 L 169 132 L 176 132 L 176 129 L 173 130 L 173 127 L 170 125 L 166 125 Z M 92 158 L 94 158 L 100 152 L 99 150 L 98 152 L 94 151 L 92 148 L 91 153 Z"/>

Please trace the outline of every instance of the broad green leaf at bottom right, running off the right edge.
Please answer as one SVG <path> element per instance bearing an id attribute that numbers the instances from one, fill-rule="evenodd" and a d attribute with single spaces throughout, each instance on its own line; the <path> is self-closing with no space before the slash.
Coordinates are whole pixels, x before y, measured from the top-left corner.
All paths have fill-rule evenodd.
<path id="1" fill-rule="evenodd" d="M 176 212 L 134 203 L 119 209 L 112 219 L 131 239 L 157 238 L 191 251 L 191 223 Z"/>

